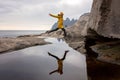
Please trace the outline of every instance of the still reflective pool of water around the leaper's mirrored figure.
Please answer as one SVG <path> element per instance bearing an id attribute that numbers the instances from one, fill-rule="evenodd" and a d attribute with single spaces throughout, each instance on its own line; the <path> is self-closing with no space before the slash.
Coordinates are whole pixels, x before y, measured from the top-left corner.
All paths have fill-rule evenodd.
<path id="1" fill-rule="evenodd" d="M 52 44 L 30 47 L 0 55 L 0 80 L 87 80 L 85 56 L 73 50 L 62 39 L 47 38 Z M 62 58 L 63 74 L 51 71 L 58 68 L 57 60 L 48 52 Z"/>

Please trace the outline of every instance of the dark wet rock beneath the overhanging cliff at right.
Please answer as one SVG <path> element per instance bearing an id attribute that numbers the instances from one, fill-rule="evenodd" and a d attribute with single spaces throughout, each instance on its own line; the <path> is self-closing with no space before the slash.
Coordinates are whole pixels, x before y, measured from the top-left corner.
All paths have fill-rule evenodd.
<path id="1" fill-rule="evenodd" d="M 99 43 L 91 49 L 99 53 L 98 60 L 120 65 L 120 41 Z"/>

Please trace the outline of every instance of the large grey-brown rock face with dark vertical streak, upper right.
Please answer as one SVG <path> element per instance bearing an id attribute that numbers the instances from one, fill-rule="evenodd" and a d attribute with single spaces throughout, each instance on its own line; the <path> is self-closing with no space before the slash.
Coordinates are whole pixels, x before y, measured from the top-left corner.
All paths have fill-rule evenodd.
<path id="1" fill-rule="evenodd" d="M 120 38 L 120 0 L 94 0 L 88 28 L 105 37 Z"/>

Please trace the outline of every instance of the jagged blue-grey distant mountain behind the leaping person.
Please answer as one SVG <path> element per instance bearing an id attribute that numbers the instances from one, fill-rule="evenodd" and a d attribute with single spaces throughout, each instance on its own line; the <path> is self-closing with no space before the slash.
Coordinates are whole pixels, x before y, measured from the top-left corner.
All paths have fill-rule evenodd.
<path id="1" fill-rule="evenodd" d="M 72 26 L 76 21 L 77 21 L 76 19 L 70 20 L 69 18 L 66 18 L 66 19 L 64 20 L 64 26 L 65 26 L 65 27 Z M 53 29 L 55 29 L 55 28 L 57 28 L 57 22 L 56 22 L 55 24 L 53 24 L 51 30 L 53 30 Z"/>

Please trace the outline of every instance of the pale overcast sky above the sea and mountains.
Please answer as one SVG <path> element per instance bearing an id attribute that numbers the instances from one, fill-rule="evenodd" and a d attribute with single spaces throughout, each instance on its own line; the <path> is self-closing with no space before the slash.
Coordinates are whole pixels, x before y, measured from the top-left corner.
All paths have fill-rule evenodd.
<path id="1" fill-rule="evenodd" d="M 57 19 L 49 13 L 78 19 L 91 6 L 92 0 L 0 0 L 0 30 L 50 29 Z"/>

